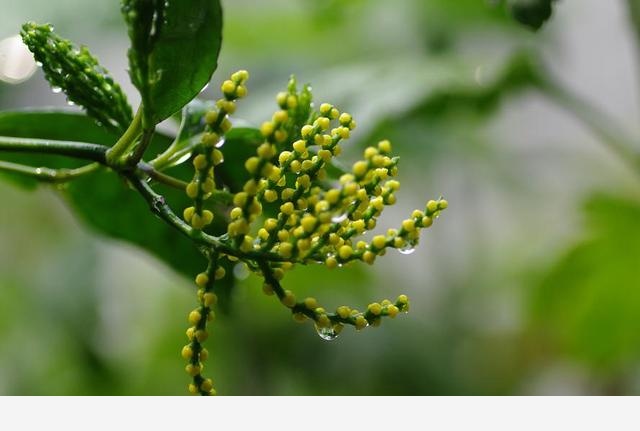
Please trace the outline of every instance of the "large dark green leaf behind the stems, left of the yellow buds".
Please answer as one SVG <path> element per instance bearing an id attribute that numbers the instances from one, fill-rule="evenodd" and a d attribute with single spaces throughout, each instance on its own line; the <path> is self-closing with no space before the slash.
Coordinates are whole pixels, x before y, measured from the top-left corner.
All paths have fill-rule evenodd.
<path id="1" fill-rule="evenodd" d="M 0 113 L 0 135 L 42 139 L 67 139 L 111 145 L 118 136 L 95 124 L 90 118 L 60 111 Z M 171 139 L 155 135 L 151 150 L 166 148 Z M 69 165 L 63 158 L 36 154 L 0 153 L 0 159 L 31 166 L 57 167 Z M 187 164 L 176 167 L 172 175 L 193 175 Z M 157 185 L 158 192 L 178 214 L 190 200 L 180 190 Z M 106 168 L 59 187 L 76 214 L 102 235 L 123 240 L 146 250 L 176 271 L 193 277 L 206 267 L 206 261 L 188 238 L 156 218 L 146 201 L 124 180 Z M 216 233 L 224 230 L 225 216 L 217 203 L 209 203 L 216 211 Z M 232 272 L 229 272 L 231 274 Z M 223 284 L 229 284 L 225 281 Z"/>

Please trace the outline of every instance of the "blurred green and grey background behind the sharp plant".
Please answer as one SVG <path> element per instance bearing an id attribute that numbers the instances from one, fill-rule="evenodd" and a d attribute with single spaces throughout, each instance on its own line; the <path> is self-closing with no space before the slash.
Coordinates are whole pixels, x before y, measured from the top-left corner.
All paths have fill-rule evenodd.
<path id="1" fill-rule="evenodd" d="M 0 0 L 0 39 L 51 22 L 135 105 L 117 3 Z M 203 97 L 248 69 L 237 116 L 258 125 L 294 73 L 357 120 L 344 160 L 394 142 L 402 188 L 379 226 L 439 195 L 450 209 L 410 256 L 285 278 L 327 308 L 408 294 L 411 312 L 380 328 L 326 342 L 259 279 L 239 281 L 207 342 L 220 394 L 640 394 L 640 171 L 531 85 L 533 71 L 549 74 L 616 133 L 640 136 L 626 2 L 562 0 L 538 33 L 481 0 L 223 6 Z M 0 83 L 2 110 L 45 105 L 65 100 L 40 71 Z M 0 182 L 0 202 L 0 394 L 185 393 L 191 281 L 93 233 L 48 187 Z"/>

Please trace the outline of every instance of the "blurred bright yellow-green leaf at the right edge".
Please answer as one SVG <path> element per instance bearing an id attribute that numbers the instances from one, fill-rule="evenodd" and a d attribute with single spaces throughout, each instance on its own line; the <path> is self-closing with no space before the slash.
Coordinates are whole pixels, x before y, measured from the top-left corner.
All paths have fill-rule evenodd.
<path id="1" fill-rule="evenodd" d="M 604 372 L 640 358 L 640 203 L 586 206 L 588 235 L 535 290 L 533 324 L 553 345 Z"/>

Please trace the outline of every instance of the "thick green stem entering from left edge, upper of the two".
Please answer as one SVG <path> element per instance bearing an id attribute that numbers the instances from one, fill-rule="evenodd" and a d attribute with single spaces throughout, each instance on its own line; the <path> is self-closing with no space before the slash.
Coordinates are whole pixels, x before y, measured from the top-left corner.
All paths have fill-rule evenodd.
<path id="1" fill-rule="evenodd" d="M 106 164 L 107 150 L 104 145 L 87 142 L 0 136 L 0 152 L 55 154 Z"/>

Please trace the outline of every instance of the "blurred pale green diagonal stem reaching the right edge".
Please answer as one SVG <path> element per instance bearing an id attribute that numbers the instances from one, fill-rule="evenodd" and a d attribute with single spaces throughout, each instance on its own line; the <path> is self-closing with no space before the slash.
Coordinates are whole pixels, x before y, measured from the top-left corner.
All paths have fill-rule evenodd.
<path id="1" fill-rule="evenodd" d="M 538 88 L 549 100 L 582 122 L 612 153 L 640 176 L 640 152 L 631 139 L 619 132 L 621 127 L 615 125 L 611 118 L 551 80 L 540 84 Z"/>

